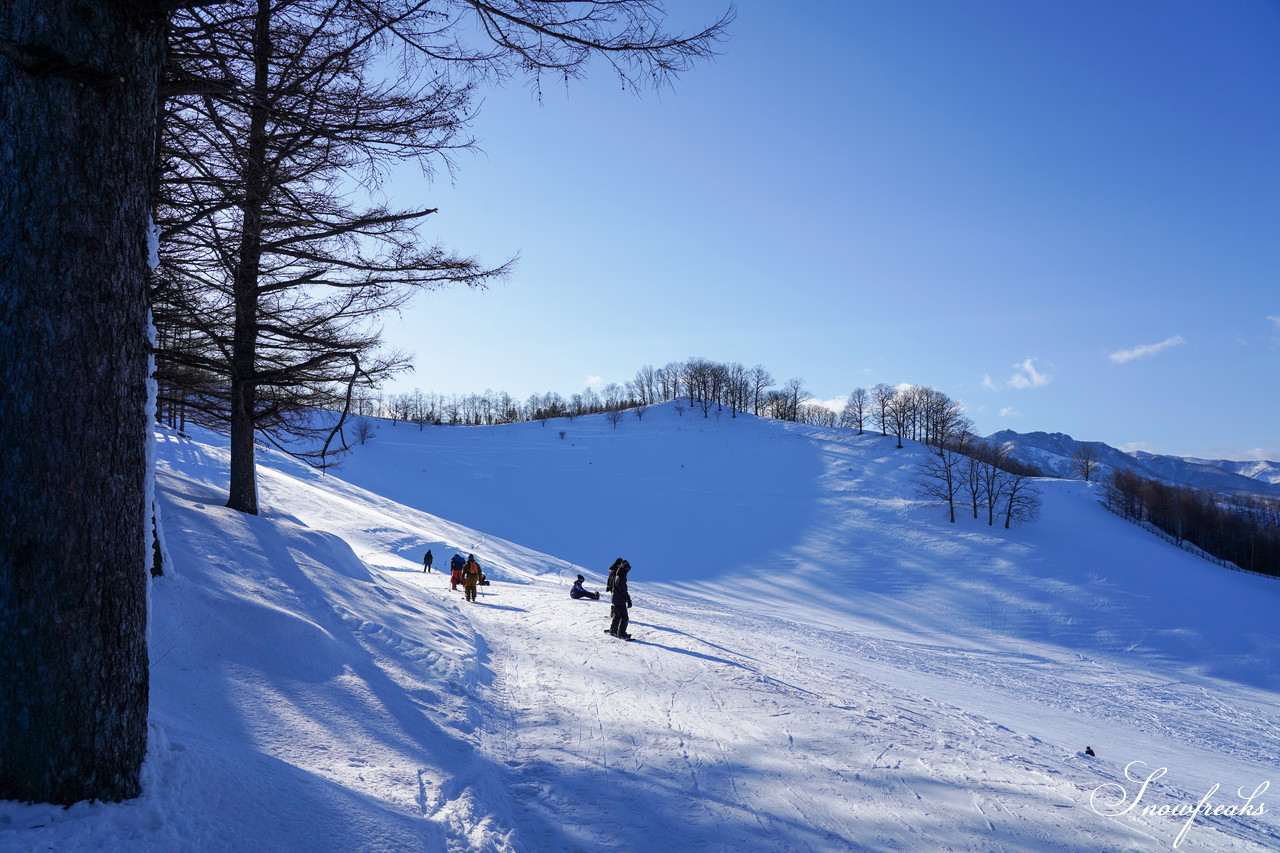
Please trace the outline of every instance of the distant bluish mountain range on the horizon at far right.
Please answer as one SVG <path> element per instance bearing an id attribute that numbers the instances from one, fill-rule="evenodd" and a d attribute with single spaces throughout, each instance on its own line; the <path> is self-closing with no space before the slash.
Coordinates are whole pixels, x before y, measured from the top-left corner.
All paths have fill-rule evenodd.
<path id="1" fill-rule="evenodd" d="M 1238 462 L 1231 460 L 1162 456 L 1138 451 L 1126 453 L 1102 442 L 1078 442 L 1064 433 L 1015 433 L 1004 429 L 986 441 L 1004 446 L 1015 459 L 1034 465 L 1050 476 L 1078 478 L 1071 461 L 1076 448 L 1096 448 L 1098 471 L 1091 479 L 1101 480 L 1117 469 L 1140 476 L 1211 489 L 1225 494 L 1254 493 L 1280 497 L 1280 462 Z"/>

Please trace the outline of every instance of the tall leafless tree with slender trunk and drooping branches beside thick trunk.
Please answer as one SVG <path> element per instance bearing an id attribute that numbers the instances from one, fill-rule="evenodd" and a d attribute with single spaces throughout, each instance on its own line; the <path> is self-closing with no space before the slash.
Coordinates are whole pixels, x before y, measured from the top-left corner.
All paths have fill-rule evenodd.
<path id="1" fill-rule="evenodd" d="M 317 429 L 315 410 L 344 416 L 407 366 L 380 351 L 378 316 L 415 291 L 504 269 L 420 247 L 434 209 L 349 200 L 355 174 L 375 183 L 397 161 L 429 169 L 468 145 L 465 86 L 380 77 L 390 24 L 355 0 L 237 9 L 192 9 L 172 26 L 154 302 L 189 343 L 157 353 L 160 378 L 189 383 L 197 418 L 229 429 L 228 506 L 256 512 L 257 435 L 330 459 L 344 448 L 342 418 Z M 183 88 L 189 79 L 216 86 Z"/>

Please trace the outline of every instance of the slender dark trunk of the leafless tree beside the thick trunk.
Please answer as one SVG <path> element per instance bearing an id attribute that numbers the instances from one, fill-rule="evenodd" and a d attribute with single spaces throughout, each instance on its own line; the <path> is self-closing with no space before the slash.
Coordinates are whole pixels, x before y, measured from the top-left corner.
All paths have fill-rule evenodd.
<path id="1" fill-rule="evenodd" d="M 257 397 L 257 284 L 262 261 L 262 209 L 266 205 L 265 101 L 270 86 L 271 8 L 257 0 L 253 26 L 253 102 L 244 155 L 244 204 L 233 283 L 236 329 L 232 333 L 230 488 L 227 506 L 257 515 L 257 460 L 253 416 Z"/>

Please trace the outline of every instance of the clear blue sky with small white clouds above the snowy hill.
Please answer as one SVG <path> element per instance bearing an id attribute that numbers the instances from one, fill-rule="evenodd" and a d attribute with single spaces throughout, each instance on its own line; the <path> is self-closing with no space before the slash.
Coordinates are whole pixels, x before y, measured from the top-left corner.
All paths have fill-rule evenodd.
<path id="1" fill-rule="evenodd" d="M 673 0 L 680 23 L 726 4 Z M 1280 459 L 1280 4 L 741 0 L 672 90 L 486 91 L 389 389 L 581 391 L 704 356 L 980 433 Z"/>

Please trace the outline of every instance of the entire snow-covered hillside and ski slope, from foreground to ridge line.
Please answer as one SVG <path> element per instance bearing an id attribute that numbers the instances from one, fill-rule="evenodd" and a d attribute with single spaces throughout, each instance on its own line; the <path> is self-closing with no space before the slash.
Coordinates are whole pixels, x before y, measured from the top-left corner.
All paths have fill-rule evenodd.
<path id="1" fill-rule="evenodd" d="M 146 794 L 0 803 L 0 850 L 1280 845 L 1280 581 L 1079 482 L 950 525 L 919 452 L 669 406 L 384 424 L 339 476 L 264 453 L 250 517 L 223 439 L 161 432 Z M 617 556 L 635 643 L 567 596 Z"/>

